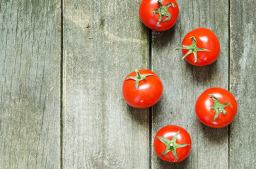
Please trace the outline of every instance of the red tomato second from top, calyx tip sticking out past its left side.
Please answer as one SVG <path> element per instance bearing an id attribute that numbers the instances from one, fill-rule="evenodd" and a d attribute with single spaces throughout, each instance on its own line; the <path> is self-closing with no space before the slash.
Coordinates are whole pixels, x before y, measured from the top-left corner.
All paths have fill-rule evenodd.
<path id="1" fill-rule="evenodd" d="M 214 63 L 219 57 L 219 39 L 206 28 L 197 28 L 187 33 L 182 41 L 183 58 L 192 65 L 204 66 Z M 182 59 L 183 59 L 182 58 Z"/>

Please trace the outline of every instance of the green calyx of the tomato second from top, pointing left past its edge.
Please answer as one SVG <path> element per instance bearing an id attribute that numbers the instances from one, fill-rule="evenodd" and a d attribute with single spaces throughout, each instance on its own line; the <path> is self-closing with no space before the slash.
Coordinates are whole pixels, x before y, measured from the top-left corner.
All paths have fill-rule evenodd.
<path id="1" fill-rule="evenodd" d="M 182 47 L 177 47 L 175 48 L 175 50 L 179 50 L 179 49 L 187 49 L 189 51 L 187 51 L 187 54 L 185 54 L 182 59 L 184 59 L 187 55 L 189 54 L 194 54 L 194 63 L 197 62 L 197 51 L 209 51 L 208 49 L 202 49 L 197 47 L 197 40 L 195 37 L 190 37 L 191 39 L 193 39 L 192 41 L 192 45 L 182 45 Z"/>

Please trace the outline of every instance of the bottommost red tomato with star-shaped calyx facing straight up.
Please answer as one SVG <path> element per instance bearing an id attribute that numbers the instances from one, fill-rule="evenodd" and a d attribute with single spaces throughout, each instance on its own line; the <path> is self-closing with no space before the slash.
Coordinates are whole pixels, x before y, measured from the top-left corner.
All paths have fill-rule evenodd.
<path id="1" fill-rule="evenodd" d="M 156 132 L 153 148 L 164 161 L 178 163 L 190 154 L 190 134 L 177 125 L 168 125 Z"/>

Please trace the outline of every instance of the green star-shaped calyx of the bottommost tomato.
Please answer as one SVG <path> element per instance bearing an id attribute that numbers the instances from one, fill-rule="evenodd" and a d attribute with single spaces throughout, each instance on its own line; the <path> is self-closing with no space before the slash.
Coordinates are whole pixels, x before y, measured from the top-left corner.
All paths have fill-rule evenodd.
<path id="1" fill-rule="evenodd" d="M 166 149 L 165 149 L 165 151 L 163 152 L 163 154 L 161 156 L 165 156 L 165 154 L 168 154 L 168 152 L 172 151 L 173 156 L 175 156 L 175 159 L 177 161 L 178 156 L 177 156 L 177 153 L 176 153 L 176 149 L 190 145 L 190 144 L 177 144 L 176 143 L 176 139 L 177 139 L 179 133 L 180 133 L 180 130 L 175 134 L 175 136 L 173 137 L 172 140 L 166 139 L 165 137 L 160 137 L 160 136 L 157 137 L 166 146 Z"/>

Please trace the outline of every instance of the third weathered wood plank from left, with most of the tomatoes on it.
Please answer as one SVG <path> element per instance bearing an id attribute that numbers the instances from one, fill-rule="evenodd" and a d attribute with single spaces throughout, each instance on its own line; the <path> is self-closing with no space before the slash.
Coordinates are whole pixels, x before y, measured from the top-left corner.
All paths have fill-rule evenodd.
<path id="1" fill-rule="evenodd" d="M 228 168 L 228 127 L 206 127 L 194 113 L 195 101 L 205 89 L 228 89 L 228 0 L 186 0 L 178 5 L 180 16 L 175 27 L 153 32 L 152 68 L 163 81 L 164 92 L 153 106 L 152 140 L 161 127 L 179 125 L 190 133 L 192 151 L 181 163 L 162 161 L 152 151 L 152 168 Z M 173 51 L 187 32 L 197 27 L 214 31 L 221 44 L 218 60 L 206 67 L 181 61 L 182 52 Z"/>

